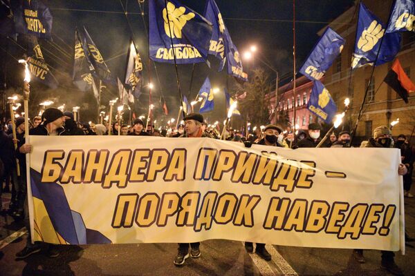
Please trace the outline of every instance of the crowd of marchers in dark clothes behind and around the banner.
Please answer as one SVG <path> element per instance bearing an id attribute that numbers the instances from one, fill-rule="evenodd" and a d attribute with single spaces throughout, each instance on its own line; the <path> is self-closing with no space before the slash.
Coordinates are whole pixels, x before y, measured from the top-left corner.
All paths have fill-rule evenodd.
<path id="1" fill-rule="evenodd" d="M 308 130 L 299 130 L 296 134 L 288 128 L 283 130 L 280 126 L 268 124 L 264 128 L 257 128 L 249 135 L 242 135 L 241 132 L 228 128 L 223 133 L 219 133 L 216 125 L 205 123 L 203 116 L 198 113 L 192 113 L 184 118 L 184 124 L 178 124 L 177 130 L 157 130 L 154 126 L 145 127 L 141 119 L 135 119 L 132 126 L 119 124 L 116 121 L 112 126 L 104 124 L 89 123 L 80 124 L 74 120 L 72 112 L 62 112 L 56 108 L 48 108 L 42 114 L 42 117 L 35 117 L 31 121 L 30 135 L 131 135 L 131 136 L 161 136 L 161 137 L 210 137 L 220 139 L 221 135 L 228 140 L 237 143 L 243 143 L 246 147 L 252 144 L 265 146 L 277 146 L 284 148 L 315 148 L 322 146 L 325 148 L 350 148 L 351 133 L 342 130 L 337 135 L 330 133 L 329 139 L 322 141 L 322 127 L 320 124 L 313 123 L 308 125 Z M 24 118 L 18 117 L 15 120 L 15 130 L 17 138 L 12 137 L 12 126 L 6 124 L 0 128 L 0 195 L 1 193 L 11 193 L 10 206 L 6 212 L 15 220 L 24 221 L 28 230 L 30 230 L 27 208 L 26 193 L 26 154 L 32 150 L 30 144 L 25 143 Z M 322 144 L 322 145 L 320 145 Z M 414 165 L 414 148 L 409 145 L 408 137 L 398 135 L 396 140 L 391 135 L 391 130 L 387 126 L 380 126 L 374 130 L 374 135 L 368 141 L 362 142 L 361 147 L 374 148 L 399 148 L 401 152 L 402 164 L 398 168 L 398 174 L 403 175 L 405 197 L 414 197 L 410 193 L 412 184 L 412 172 Z M 17 170 L 19 168 L 19 170 Z M 3 183 L 5 188 L 3 188 Z M 0 210 L 1 210 L 0 197 Z M 6 206 L 7 207 L 7 206 Z M 4 211 L 4 210 L 3 210 Z M 413 241 L 408 235 L 407 242 Z M 201 255 L 199 248 L 200 243 L 179 244 L 178 254 L 174 258 L 174 264 L 181 266 L 188 257 L 197 258 Z M 245 248 L 248 252 L 254 251 L 254 244 L 246 242 Z M 56 257 L 59 252 L 53 245 L 32 243 L 30 235 L 26 242 L 26 247 L 17 253 L 18 259 L 23 259 L 45 250 L 49 257 Z M 259 257 L 269 261 L 270 253 L 266 250 L 265 244 L 256 244 L 255 253 Z M 363 250 L 356 249 L 353 251 L 358 262 L 365 262 Z M 385 268 L 394 275 L 402 275 L 402 270 L 394 262 L 394 253 L 382 251 L 382 268 Z"/>

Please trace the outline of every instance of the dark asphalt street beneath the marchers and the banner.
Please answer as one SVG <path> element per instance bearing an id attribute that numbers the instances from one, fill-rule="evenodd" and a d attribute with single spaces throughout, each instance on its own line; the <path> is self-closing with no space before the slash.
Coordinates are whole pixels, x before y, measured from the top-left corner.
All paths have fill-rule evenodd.
<path id="1" fill-rule="evenodd" d="M 8 197 L 10 194 L 3 195 Z M 415 237 L 415 198 L 405 199 L 407 231 Z M 7 199 L 3 198 L 6 206 Z M 268 246 L 273 255 L 264 262 L 248 254 L 241 242 L 202 242 L 199 259 L 187 259 L 181 268 L 173 264 L 176 244 L 115 244 L 59 246 L 61 254 L 48 258 L 42 253 L 17 261 L 24 248 L 23 226 L 1 216 L 0 275 L 389 275 L 380 268 L 380 252 L 365 251 L 366 264 L 351 257 L 349 249 Z M 21 236 L 22 233 L 25 233 Z M 20 236 L 20 237 L 18 237 Z M 15 237 L 18 237 L 15 239 Z M 412 243 L 415 246 L 415 242 Z M 415 248 L 407 246 L 396 263 L 405 275 L 415 275 Z"/>

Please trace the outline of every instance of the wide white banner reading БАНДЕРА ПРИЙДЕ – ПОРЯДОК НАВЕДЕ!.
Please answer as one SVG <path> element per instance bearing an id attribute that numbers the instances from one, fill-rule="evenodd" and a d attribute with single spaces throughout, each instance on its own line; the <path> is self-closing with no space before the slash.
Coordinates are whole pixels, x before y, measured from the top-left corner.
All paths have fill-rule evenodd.
<path id="1" fill-rule="evenodd" d="M 33 242 L 404 249 L 398 149 L 111 136 L 30 144 Z"/>

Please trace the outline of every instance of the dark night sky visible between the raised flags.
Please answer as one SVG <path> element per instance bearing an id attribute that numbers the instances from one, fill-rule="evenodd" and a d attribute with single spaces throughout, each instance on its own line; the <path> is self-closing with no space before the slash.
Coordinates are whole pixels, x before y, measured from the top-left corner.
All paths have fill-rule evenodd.
<path id="1" fill-rule="evenodd" d="M 95 44 L 100 49 L 107 66 L 115 77 L 124 77 L 124 66 L 127 60 L 127 47 L 130 37 L 133 37 L 142 61 L 145 64 L 145 83 L 148 82 L 147 58 L 148 44 L 145 26 L 140 15 L 138 1 L 133 0 L 54 0 L 44 1 L 53 14 L 53 41 L 62 49 L 73 55 L 73 37 L 75 26 L 85 26 L 91 34 Z M 205 1 L 181 1 L 181 3 L 203 14 Z M 288 81 L 292 78 L 293 71 L 293 1 L 288 0 L 261 0 L 261 1 L 230 1 L 216 0 L 222 17 L 225 21 L 233 42 L 241 55 L 248 50 L 249 46 L 255 44 L 259 49 L 261 59 L 266 60 L 273 68 L 279 70 L 280 75 L 286 75 Z M 317 32 L 342 12 L 353 5 L 353 0 L 299 0 L 296 1 L 296 33 L 297 33 L 297 70 L 316 43 Z M 129 23 L 123 12 L 127 9 Z M 141 3 L 145 11 L 145 24 L 147 26 L 148 1 Z M 84 10 L 84 11 L 81 11 Z M 308 21 L 308 22 L 302 22 Z M 3 38 L 2 38 L 3 39 Z M 44 51 L 46 61 L 59 70 L 71 73 L 72 60 L 63 57 L 59 50 L 53 51 L 54 55 L 62 57 L 63 60 L 54 58 Z M 205 63 L 195 66 L 194 82 L 192 85 L 191 98 L 196 96 L 201 84 L 209 75 L 212 86 L 225 87 L 227 75 L 225 72 L 216 72 L 219 62 L 213 56 L 209 57 L 211 68 Z M 252 68 L 263 67 L 258 60 L 243 62 L 244 69 L 248 74 Z M 163 92 L 165 101 L 172 113 L 177 114 L 178 92 L 174 66 L 170 64 L 156 63 L 160 77 L 161 88 L 158 81 L 155 84 L 154 97 L 158 99 Z M 188 95 L 190 88 L 190 75 L 192 65 L 179 66 L 181 87 L 184 95 Z M 275 73 L 268 70 L 270 82 L 275 79 Z M 290 76 L 291 73 L 291 76 Z M 155 77 L 154 66 L 151 65 L 151 77 Z M 232 79 L 231 79 L 232 81 Z M 160 91 L 161 90 L 161 91 Z M 145 103 L 145 93 L 142 102 Z M 148 95 L 148 92 L 147 92 Z M 148 99 L 147 99 L 148 104 Z"/>

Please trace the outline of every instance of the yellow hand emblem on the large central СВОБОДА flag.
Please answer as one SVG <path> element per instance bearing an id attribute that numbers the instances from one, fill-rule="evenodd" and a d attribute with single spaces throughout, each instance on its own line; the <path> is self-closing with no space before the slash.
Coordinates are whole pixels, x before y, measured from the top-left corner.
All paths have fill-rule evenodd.
<path id="1" fill-rule="evenodd" d="M 176 8 L 173 3 L 167 2 L 167 9 L 163 9 L 163 19 L 165 22 L 165 32 L 168 37 L 172 37 L 172 39 L 182 38 L 182 29 L 185 27 L 187 21 L 194 17 L 193 12 L 185 14 L 185 11 L 185 7 Z"/>

